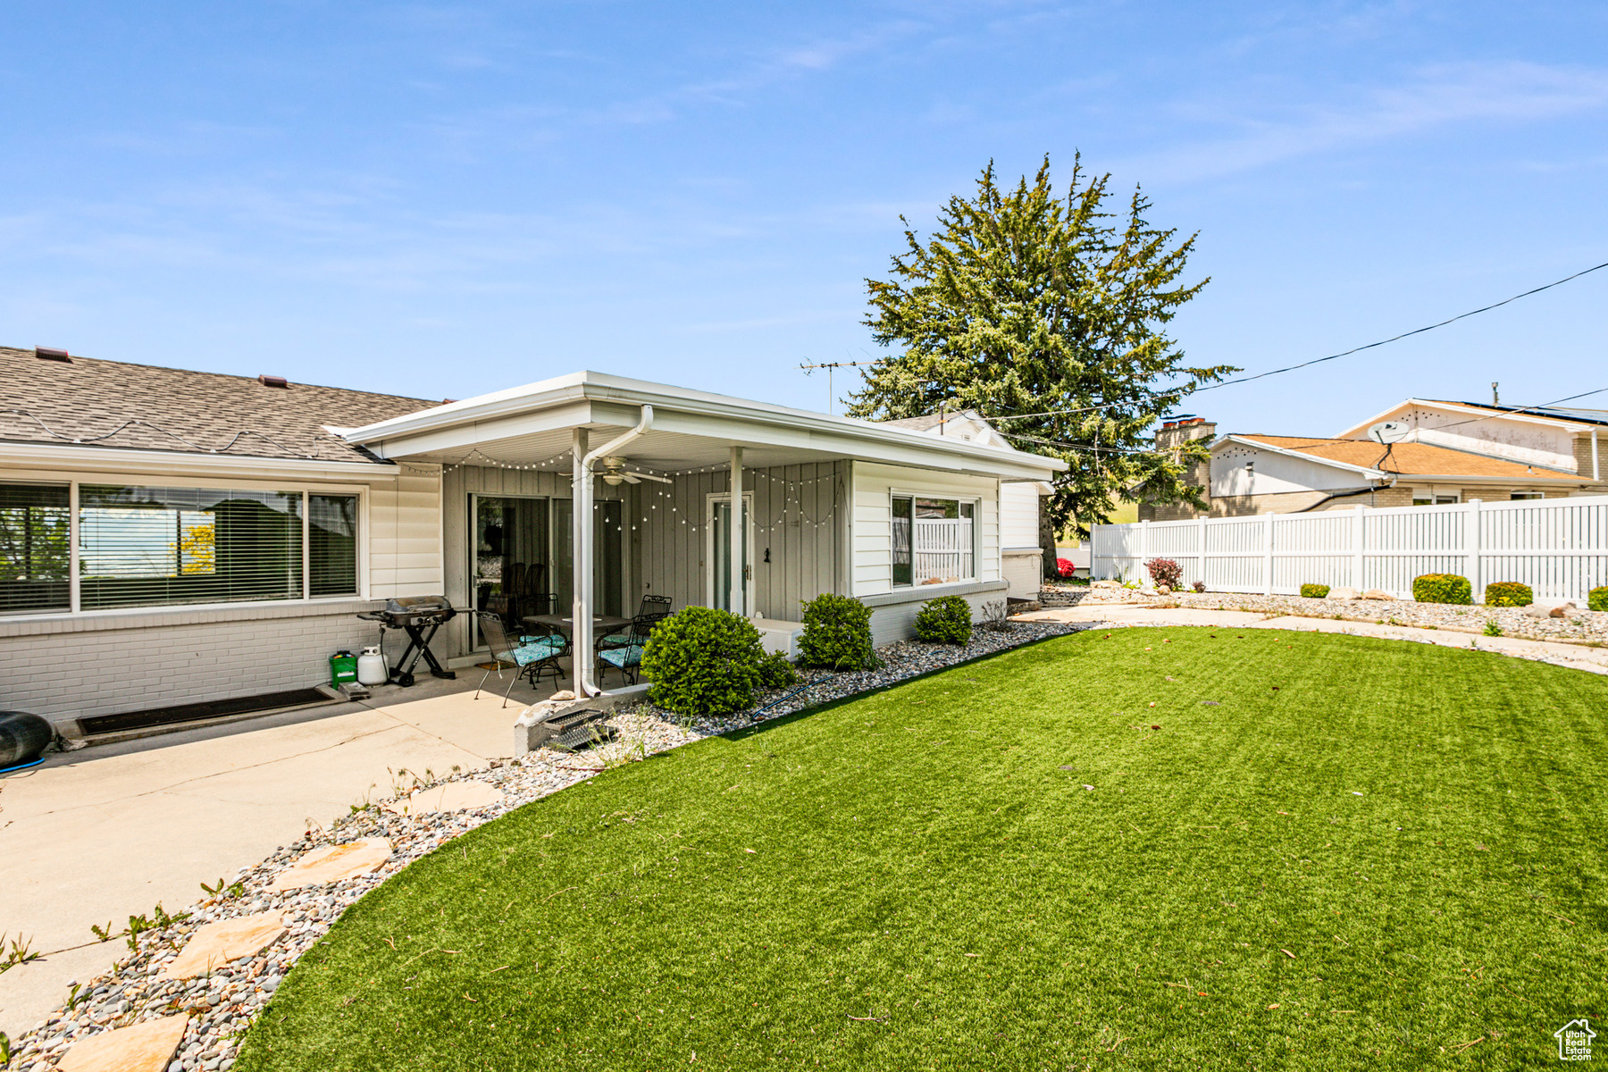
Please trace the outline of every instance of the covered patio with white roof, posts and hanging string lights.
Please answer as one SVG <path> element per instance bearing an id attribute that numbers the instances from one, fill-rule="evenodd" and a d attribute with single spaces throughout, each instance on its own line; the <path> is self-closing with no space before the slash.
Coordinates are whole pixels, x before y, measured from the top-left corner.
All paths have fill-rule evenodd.
<path id="1" fill-rule="evenodd" d="M 966 583 L 917 595 L 1002 588 L 999 482 L 1045 479 L 1060 464 L 593 371 L 343 436 L 404 468 L 439 473 L 447 598 L 511 627 L 571 619 L 571 681 L 580 694 L 598 691 L 593 616 L 629 619 L 643 596 L 667 598 L 672 611 L 716 606 L 759 619 L 767 644 L 786 651 L 802 599 L 889 587 L 896 484 L 962 481 L 974 497 L 957 508 L 971 543 L 949 551 L 957 563 L 971 556 L 954 571 Z M 881 474 L 875 487 L 870 471 Z M 473 616 L 442 638 L 458 665 L 489 657 Z"/>

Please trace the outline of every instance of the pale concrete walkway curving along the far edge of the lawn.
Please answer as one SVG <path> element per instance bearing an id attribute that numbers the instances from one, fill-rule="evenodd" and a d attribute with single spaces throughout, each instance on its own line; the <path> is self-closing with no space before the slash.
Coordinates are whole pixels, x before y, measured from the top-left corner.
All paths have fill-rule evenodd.
<path id="1" fill-rule="evenodd" d="M 1608 673 L 1608 648 L 1587 648 L 1557 640 L 1523 640 L 1518 636 L 1483 636 L 1449 628 L 1415 628 L 1410 625 L 1378 625 L 1375 622 L 1336 622 L 1325 617 L 1269 617 L 1256 611 L 1200 611 L 1190 608 L 1156 608 L 1135 603 L 1097 603 L 1019 614 L 1039 622 L 1111 622 L 1113 625 L 1217 625 L 1222 628 L 1286 628 L 1301 633 L 1344 633 L 1405 640 L 1438 648 L 1495 651 L 1516 659 L 1534 659 L 1560 667 Z"/>

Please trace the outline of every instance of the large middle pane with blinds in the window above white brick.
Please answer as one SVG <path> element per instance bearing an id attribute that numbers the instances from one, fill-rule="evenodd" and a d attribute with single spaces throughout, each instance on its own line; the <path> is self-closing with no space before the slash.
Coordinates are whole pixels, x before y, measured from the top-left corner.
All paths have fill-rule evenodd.
<path id="1" fill-rule="evenodd" d="M 302 493 L 79 485 L 79 606 L 302 598 Z"/>

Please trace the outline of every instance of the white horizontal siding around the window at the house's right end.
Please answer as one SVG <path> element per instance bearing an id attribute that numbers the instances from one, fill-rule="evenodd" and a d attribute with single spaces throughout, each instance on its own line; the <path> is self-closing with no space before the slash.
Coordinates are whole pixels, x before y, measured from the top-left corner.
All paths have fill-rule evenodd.
<path id="1" fill-rule="evenodd" d="M 894 590 L 892 505 L 889 501 L 894 493 L 978 500 L 976 579 L 1000 579 L 999 481 L 862 461 L 854 466 L 854 569 L 851 595 L 876 596 Z"/>

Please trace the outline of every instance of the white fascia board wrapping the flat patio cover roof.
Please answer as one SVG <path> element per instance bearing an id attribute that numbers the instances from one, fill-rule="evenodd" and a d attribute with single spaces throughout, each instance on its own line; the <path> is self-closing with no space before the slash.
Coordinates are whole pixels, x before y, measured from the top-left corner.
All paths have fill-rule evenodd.
<path id="1" fill-rule="evenodd" d="M 352 429 L 347 442 L 384 444 L 389 458 L 463 445 L 476 445 L 531 431 L 572 428 L 585 411 L 590 423 L 635 423 L 634 413 L 611 411 L 606 403 L 651 405 L 653 428 L 709 439 L 823 450 L 867 461 L 892 461 L 929 469 L 974 471 L 989 476 L 1044 479 L 1064 471 L 1060 458 L 1019 450 L 999 450 L 960 439 L 929 437 L 902 428 L 888 428 L 827 413 L 810 413 L 767 402 L 749 402 L 685 387 L 669 387 L 603 373 L 572 373 L 558 379 L 513 387 L 479 399 L 410 413 L 367 428 Z M 605 403 L 605 405 L 598 405 Z M 552 410 L 566 410 L 568 416 Z M 474 426 L 471 436 L 450 429 Z M 425 445 L 437 444 L 437 445 Z M 442 447 L 439 444 L 450 444 Z"/>

